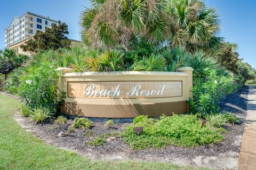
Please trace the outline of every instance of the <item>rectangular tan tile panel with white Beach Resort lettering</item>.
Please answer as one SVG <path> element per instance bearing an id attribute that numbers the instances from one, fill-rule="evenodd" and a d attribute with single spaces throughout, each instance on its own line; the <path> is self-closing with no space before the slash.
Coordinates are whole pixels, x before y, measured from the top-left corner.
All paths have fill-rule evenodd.
<path id="1" fill-rule="evenodd" d="M 170 98 L 182 96 L 182 81 L 68 82 L 68 98 Z"/>

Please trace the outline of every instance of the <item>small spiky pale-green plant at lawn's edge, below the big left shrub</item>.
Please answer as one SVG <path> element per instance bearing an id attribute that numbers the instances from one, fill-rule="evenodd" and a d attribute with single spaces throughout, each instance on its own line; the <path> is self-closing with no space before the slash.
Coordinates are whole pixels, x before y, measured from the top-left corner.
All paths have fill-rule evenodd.
<path id="1" fill-rule="evenodd" d="M 37 107 L 34 110 L 31 111 L 31 114 L 29 117 L 35 121 L 35 123 L 41 123 L 44 122 L 48 118 L 52 117 L 52 111 L 50 108 L 47 107 Z"/>

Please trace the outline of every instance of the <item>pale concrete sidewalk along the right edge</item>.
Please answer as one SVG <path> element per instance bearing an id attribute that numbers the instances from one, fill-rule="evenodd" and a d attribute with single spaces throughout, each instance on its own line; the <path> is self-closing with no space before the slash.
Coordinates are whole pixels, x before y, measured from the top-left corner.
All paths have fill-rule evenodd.
<path id="1" fill-rule="evenodd" d="M 238 169 L 256 169 L 256 89 L 253 86 L 249 86 L 247 117 L 239 153 Z"/>

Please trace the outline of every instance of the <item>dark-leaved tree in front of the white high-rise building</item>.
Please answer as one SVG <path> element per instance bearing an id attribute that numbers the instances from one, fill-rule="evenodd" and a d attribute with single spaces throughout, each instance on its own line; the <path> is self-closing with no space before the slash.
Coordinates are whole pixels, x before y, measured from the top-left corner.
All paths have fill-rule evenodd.
<path id="1" fill-rule="evenodd" d="M 20 47 L 23 51 L 38 52 L 40 50 L 59 50 L 69 48 L 71 41 L 66 37 L 68 26 L 65 22 L 53 23 L 51 28 L 45 28 L 45 32 L 37 30 L 33 39 L 29 39 L 26 44 Z"/>

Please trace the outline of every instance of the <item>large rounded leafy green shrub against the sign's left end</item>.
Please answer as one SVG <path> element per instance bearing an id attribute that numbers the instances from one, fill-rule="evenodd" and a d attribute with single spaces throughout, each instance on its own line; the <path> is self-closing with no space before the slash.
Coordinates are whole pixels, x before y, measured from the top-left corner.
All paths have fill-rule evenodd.
<path id="1" fill-rule="evenodd" d="M 29 68 L 27 76 L 21 77 L 18 93 L 29 107 L 47 107 L 53 113 L 59 110 L 66 93 L 60 91 L 60 72 L 52 68 L 51 62 L 45 62 Z"/>

